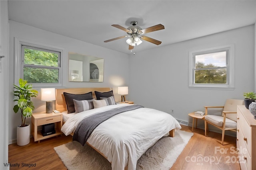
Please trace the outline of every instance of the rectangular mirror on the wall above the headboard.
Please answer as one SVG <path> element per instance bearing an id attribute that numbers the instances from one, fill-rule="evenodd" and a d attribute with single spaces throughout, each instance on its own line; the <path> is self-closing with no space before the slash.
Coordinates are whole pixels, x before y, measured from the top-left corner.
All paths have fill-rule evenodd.
<path id="1" fill-rule="evenodd" d="M 69 52 L 68 81 L 103 82 L 104 59 Z"/>

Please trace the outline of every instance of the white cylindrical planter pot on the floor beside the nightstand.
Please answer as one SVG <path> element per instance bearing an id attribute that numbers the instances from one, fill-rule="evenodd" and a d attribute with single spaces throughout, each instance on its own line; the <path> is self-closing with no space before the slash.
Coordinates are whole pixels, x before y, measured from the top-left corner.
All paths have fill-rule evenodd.
<path id="1" fill-rule="evenodd" d="M 17 127 L 17 145 L 24 146 L 30 143 L 30 124 L 28 126 Z"/>

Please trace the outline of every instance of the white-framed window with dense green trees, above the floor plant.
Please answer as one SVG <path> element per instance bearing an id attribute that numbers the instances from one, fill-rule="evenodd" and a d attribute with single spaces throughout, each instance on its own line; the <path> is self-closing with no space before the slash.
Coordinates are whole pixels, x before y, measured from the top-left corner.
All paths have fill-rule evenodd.
<path id="1" fill-rule="evenodd" d="M 38 87 L 61 86 L 62 49 L 17 39 L 15 48 L 15 80 L 23 78 Z"/>

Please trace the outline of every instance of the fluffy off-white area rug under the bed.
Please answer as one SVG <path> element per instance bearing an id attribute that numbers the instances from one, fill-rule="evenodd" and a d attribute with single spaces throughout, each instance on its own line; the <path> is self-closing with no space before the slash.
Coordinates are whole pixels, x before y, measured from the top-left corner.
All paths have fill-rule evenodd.
<path id="1" fill-rule="evenodd" d="M 193 133 L 176 131 L 175 137 L 162 137 L 138 160 L 136 170 L 169 170 Z M 111 164 L 88 145 L 74 141 L 54 150 L 68 170 L 111 170 Z"/>

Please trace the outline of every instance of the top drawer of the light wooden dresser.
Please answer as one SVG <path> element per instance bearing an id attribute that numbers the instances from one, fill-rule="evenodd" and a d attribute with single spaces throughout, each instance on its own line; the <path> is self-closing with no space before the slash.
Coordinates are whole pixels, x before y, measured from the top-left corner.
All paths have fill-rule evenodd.
<path id="1" fill-rule="evenodd" d="M 242 131 L 242 135 L 243 135 L 243 141 L 240 140 L 240 143 L 243 142 L 245 144 L 246 148 L 249 151 L 250 156 L 252 156 L 252 136 L 251 136 L 252 129 L 244 119 L 244 116 L 241 115 L 239 111 L 237 116 L 238 116 L 237 124 L 240 126 L 239 130 Z"/>

